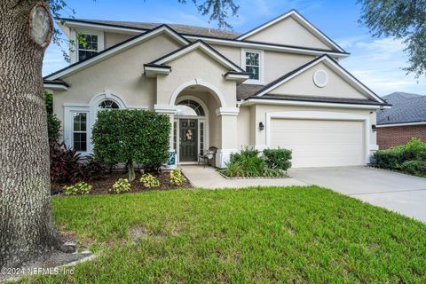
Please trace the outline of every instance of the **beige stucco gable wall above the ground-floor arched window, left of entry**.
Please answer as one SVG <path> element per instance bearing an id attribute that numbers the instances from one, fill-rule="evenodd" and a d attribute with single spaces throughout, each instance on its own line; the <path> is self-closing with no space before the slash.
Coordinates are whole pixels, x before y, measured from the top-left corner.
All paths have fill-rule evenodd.
<path id="1" fill-rule="evenodd" d="M 143 75 L 144 63 L 150 62 L 181 45 L 170 36 L 159 35 L 100 61 L 73 75 L 63 77 L 70 85 L 67 91 L 55 91 L 54 111 L 63 121 L 64 104 L 88 105 L 103 92 L 119 96 L 128 107 L 154 107 L 155 79 Z"/>

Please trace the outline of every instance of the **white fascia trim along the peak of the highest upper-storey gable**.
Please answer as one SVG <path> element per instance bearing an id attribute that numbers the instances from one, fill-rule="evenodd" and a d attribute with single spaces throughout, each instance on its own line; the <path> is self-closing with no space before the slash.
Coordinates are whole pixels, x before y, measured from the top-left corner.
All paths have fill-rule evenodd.
<path id="1" fill-rule="evenodd" d="M 295 19 L 299 24 L 301 24 L 304 28 L 308 29 L 313 34 L 313 36 L 319 37 L 319 40 L 321 40 L 322 42 L 328 43 L 329 45 L 334 47 L 336 50 L 344 52 L 340 46 L 335 44 L 332 40 L 330 40 L 327 36 L 325 36 L 322 32 L 320 32 L 318 28 L 315 28 L 309 21 L 305 20 L 304 17 L 302 17 L 298 12 L 294 10 L 287 12 L 284 15 L 278 17 L 277 19 L 272 20 L 258 28 L 255 28 L 254 30 L 248 32 L 247 34 L 237 37 L 237 39 L 243 40 L 247 38 L 248 36 L 253 36 L 254 34 L 260 32 L 261 30 L 264 30 L 264 28 L 271 27 L 277 22 L 280 22 L 281 20 L 284 20 L 288 17 L 293 17 L 293 19 Z"/>

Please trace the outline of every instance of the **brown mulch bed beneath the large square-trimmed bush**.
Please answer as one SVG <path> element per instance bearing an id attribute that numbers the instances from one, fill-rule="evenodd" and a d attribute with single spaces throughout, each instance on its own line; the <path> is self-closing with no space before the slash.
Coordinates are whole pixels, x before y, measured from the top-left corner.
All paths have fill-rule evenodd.
<path id="1" fill-rule="evenodd" d="M 158 180 L 160 180 L 161 185 L 159 187 L 154 188 L 146 188 L 142 183 L 139 182 L 140 177 L 142 177 L 143 174 L 137 172 L 136 178 L 130 182 L 130 191 L 128 193 L 139 193 L 139 192 L 147 192 L 152 190 L 170 190 L 170 189 L 177 189 L 177 188 L 190 188 L 193 187 L 188 181 L 188 179 L 185 177 L 185 182 L 183 185 L 171 185 L 170 184 L 170 171 L 169 170 L 162 170 L 158 174 L 153 174 L 154 177 L 157 177 Z M 109 189 L 113 188 L 114 183 L 119 178 L 128 178 L 128 174 L 122 171 L 114 171 L 111 174 L 104 175 L 103 177 L 99 177 L 97 179 L 86 181 L 88 185 L 91 185 L 91 193 L 89 194 L 114 194 L 109 192 Z M 54 184 L 51 185 L 51 192 L 57 192 L 64 185 L 74 185 L 73 184 Z"/>

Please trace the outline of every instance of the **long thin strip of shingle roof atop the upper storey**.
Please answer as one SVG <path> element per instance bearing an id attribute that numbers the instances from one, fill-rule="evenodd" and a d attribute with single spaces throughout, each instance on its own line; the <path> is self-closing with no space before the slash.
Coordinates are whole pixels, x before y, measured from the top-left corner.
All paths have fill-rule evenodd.
<path id="1" fill-rule="evenodd" d="M 163 23 L 145 23 L 145 22 L 132 22 L 120 20 L 86 20 L 86 19 L 62 19 L 66 21 L 81 21 L 92 24 L 102 24 L 122 28 L 139 28 L 139 29 L 152 29 L 161 26 Z M 227 39 L 233 39 L 240 36 L 240 33 L 225 31 L 217 28 L 202 28 L 189 25 L 180 24 L 167 24 L 173 28 L 177 33 L 193 36 L 215 36 Z"/>

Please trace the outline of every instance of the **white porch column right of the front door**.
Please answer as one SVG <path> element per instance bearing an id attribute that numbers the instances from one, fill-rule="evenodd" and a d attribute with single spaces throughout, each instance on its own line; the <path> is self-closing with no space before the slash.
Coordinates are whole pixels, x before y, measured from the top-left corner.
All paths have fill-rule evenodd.
<path id="1" fill-rule="evenodd" d="M 217 168 L 225 168 L 226 162 L 229 162 L 231 154 L 237 152 L 237 115 L 239 109 L 233 108 L 217 108 L 216 114 L 220 116 L 220 141 L 221 147 L 217 150 L 216 166 Z"/>

